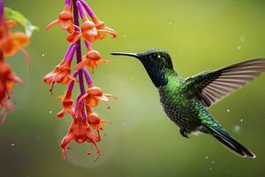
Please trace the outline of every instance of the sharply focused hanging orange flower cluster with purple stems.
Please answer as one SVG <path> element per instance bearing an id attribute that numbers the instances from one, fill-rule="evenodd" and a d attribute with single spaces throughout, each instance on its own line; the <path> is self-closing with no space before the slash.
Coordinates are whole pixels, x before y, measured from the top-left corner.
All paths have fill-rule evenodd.
<path id="1" fill-rule="evenodd" d="M 91 20 L 87 18 L 87 15 Z M 82 20 L 81 26 L 79 26 L 79 17 Z M 67 158 L 66 150 L 69 142 L 73 140 L 79 143 L 91 143 L 92 150 L 93 147 L 96 148 L 96 157 L 99 158 L 100 150 L 97 142 L 101 141 L 100 131 L 103 125 L 109 121 L 101 119 L 93 111 L 93 108 L 101 101 L 107 103 L 110 97 L 117 97 L 103 94 L 102 89 L 93 84 L 87 68 L 94 69 L 101 63 L 110 62 L 102 59 L 101 54 L 92 48 L 91 43 L 104 39 L 107 34 L 112 35 L 112 37 L 116 37 L 117 34 L 95 16 L 95 13 L 84 0 L 65 0 L 63 12 L 59 13 L 58 18 L 52 21 L 47 29 L 56 25 L 68 33 L 66 40 L 71 42 L 71 45 L 62 61 L 52 72 L 46 74 L 43 80 L 50 86 L 51 93 L 56 83 L 68 85 L 65 94 L 59 96 L 63 110 L 57 113 L 58 118 L 63 118 L 65 114 L 72 116 L 72 125 L 61 142 L 63 158 Z M 84 41 L 87 49 L 84 56 L 81 53 L 81 40 Z M 77 65 L 72 72 L 74 53 L 76 53 Z M 85 83 L 87 83 L 87 87 Z M 79 85 L 79 95 L 76 96 L 75 102 L 72 99 L 74 84 Z M 90 152 L 87 154 L 90 155 Z"/>

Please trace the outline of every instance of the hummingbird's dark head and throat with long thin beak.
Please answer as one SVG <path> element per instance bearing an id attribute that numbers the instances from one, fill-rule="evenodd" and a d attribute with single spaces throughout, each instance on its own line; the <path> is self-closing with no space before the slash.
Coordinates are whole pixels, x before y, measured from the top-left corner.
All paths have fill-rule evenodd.
<path id="1" fill-rule="evenodd" d="M 137 58 L 146 68 L 155 87 L 167 84 L 166 72 L 174 71 L 170 54 L 161 49 L 146 50 L 141 53 L 113 52 L 112 55 L 122 55 Z"/>

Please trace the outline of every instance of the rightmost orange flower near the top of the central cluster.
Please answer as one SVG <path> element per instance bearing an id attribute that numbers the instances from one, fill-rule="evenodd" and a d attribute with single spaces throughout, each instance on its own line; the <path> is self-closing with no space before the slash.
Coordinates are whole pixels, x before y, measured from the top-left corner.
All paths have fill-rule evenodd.
<path id="1" fill-rule="evenodd" d="M 112 35 L 113 38 L 117 37 L 117 33 L 110 27 L 106 27 L 105 23 L 98 19 L 96 16 L 93 18 L 95 27 L 97 29 L 97 39 L 104 39 L 107 34 Z"/>

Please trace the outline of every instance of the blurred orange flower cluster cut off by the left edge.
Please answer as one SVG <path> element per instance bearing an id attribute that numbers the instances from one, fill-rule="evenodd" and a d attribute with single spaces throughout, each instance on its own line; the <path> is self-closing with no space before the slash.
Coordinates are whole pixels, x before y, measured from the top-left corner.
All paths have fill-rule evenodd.
<path id="1" fill-rule="evenodd" d="M 21 17 L 17 16 L 18 18 Z M 13 56 L 20 50 L 29 59 L 27 52 L 23 50 L 23 47 L 29 43 L 29 36 L 22 32 L 12 32 L 11 28 L 16 26 L 16 21 L 6 19 L 4 2 L 0 0 L 0 124 L 4 123 L 7 112 L 13 110 L 14 104 L 11 103 L 10 99 L 14 84 L 22 84 L 22 80 L 13 73 L 11 65 L 6 63 L 6 58 Z"/>

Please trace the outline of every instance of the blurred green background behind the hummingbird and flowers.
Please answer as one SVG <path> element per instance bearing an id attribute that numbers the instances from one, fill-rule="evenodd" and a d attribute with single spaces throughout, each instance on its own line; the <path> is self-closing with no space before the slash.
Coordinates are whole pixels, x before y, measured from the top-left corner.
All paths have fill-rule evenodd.
<path id="1" fill-rule="evenodd" d="M 166 118 L 155 87 L 140 62 L 115 58 L 111 51 L 139 52 L 160 47 L 170 51 L 178 73 L 188 77 L 247 58 L 265 57 L 265 1 L 263 0 L 98 0 L 87 2 L 97 16 L 117 30 L 117 39 L 96 42 L 94 48 L 110 65 L 92 74 L 95 85 L 119 97 L 97 109 L 106 125 L 102 155 L 83 153 L 86 143 L 71 143 L 70 159 L 61 158 L 60 141 L 71 124 L 57 119 L 57 96 L 42 81 L 64 57 L 68 46 L 59 27 L 44 28 L 57 18 L 64 1 L 5 0 L 40 27 L 28 53 L 30 69 L 21 53 L 9 58 L 25 81 L 12 97 L 14 112 L 0 127 L 0 176 L 141 177 L 141 176 L 265 176 L 265 75 L 210 108 L 232 136 L 253 150 L 255 159 L 239 158 L 208 135 L 185 139 Z M 77 94 L 77 90 L 75 92 Z"/>

